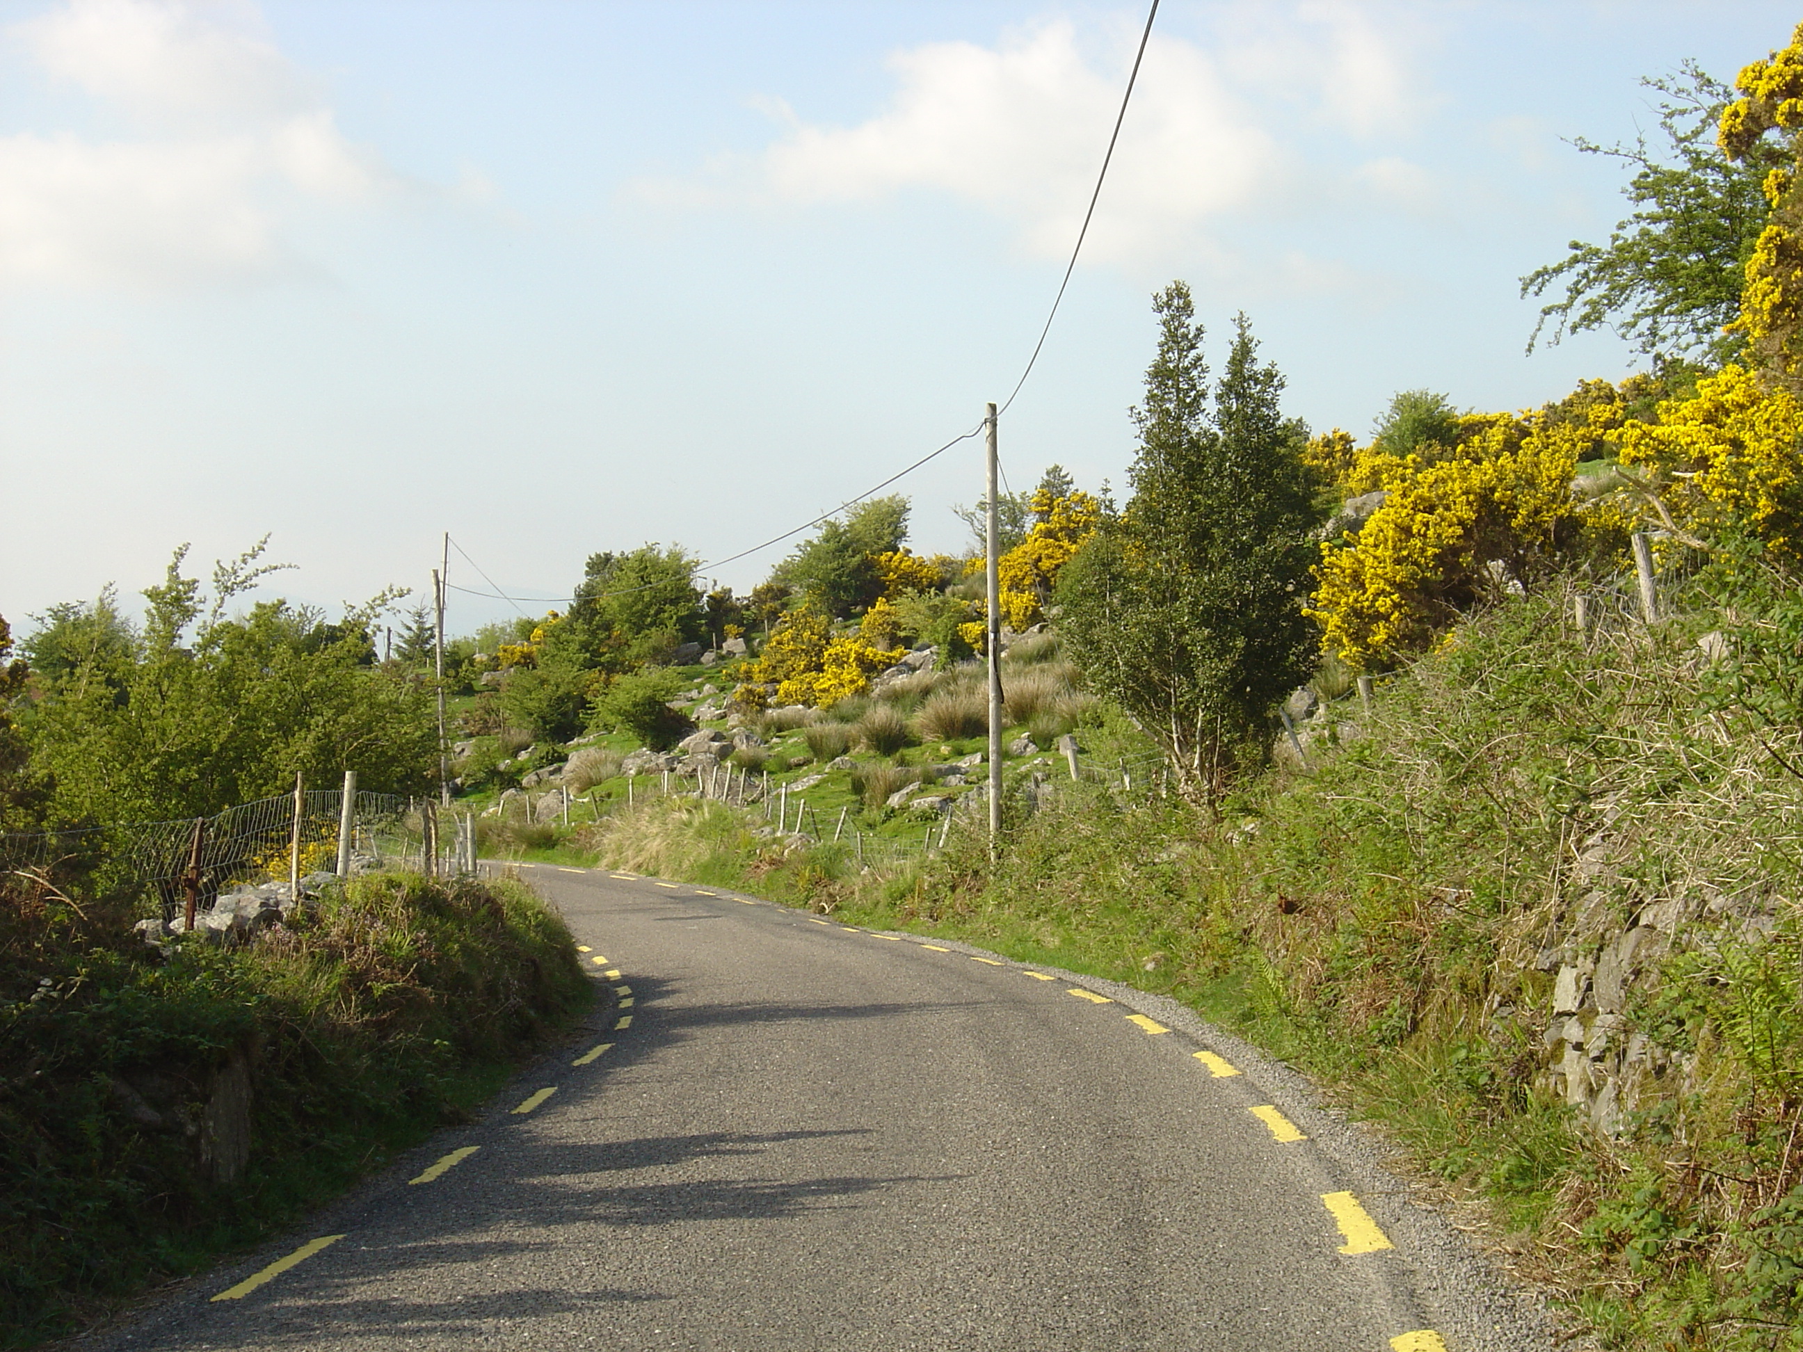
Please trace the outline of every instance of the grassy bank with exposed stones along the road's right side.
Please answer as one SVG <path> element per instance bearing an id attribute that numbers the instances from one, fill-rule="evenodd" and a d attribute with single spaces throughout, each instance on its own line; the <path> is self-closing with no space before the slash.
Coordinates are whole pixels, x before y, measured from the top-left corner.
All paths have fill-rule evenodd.
<path id="1" fill-rule="evenodd" d="M 1796 726 L 1734 699 L 1771 611 L 1698 579 L 1682 620 L 1578 635 L 1569 602 L 1329 705 L 1309 768 L 1219 818 L 1062 784 L 995 867 L 954 833 L 860 872 L 700 804 L 599 844 L 1181 997 L 1486 1199 L 1574 1327 L 1803 1347 L 1803 781 Z"/>

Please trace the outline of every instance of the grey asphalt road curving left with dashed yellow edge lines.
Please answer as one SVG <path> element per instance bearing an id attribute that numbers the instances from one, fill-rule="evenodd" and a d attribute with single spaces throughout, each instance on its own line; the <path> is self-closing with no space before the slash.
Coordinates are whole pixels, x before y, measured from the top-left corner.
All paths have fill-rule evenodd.
<path id="1" fill-rule="evenodd" d="M 1304 1082 L 1168 1002 L 712 889 L 526 876 L 620 1006 L 94 1347 L 1551 1347 Z"/>

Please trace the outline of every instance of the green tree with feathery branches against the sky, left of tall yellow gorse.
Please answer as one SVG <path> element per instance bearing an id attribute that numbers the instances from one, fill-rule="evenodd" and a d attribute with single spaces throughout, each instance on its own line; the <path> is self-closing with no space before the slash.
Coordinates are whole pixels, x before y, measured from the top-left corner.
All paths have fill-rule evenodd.
<path id="1" fill-rule="evenodd" d="M 1744 341 L 1724 330 L 1740 312 L 1747 261 L 1765 229 L 1762 182 L 1790 155 L 1751 137 L 1733 146 L 1724 139 L 1731 159 L 1724 157 L 1713 133 L 1734 92 L 1693 61 L 1677 76 L 1641 83 L 1664 96 L 1659 130 L 1666 153 L 1650 150 L 1644 135 L 1632 146 L 1572 142 L 1634 171 L 1623 193 L 1635 211 L 1606 245 L 1572 240 L 1561 261 L 1522 278 L 1522 296 L 1565 287 L 1563 299 L 1540 310 L 1527 348 L 1533 352 L 1549 323 L 1552 343 L 1608 328 L 1657 359 L 1689 355 L 1718 366 Z"/>

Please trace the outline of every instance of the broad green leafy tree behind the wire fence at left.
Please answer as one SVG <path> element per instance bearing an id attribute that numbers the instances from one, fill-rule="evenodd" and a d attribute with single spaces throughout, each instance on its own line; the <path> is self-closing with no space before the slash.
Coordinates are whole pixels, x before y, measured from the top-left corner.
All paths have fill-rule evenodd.
<path id="1" fill-rule="evenodd" d="M 142 640 L 105 680 L 78 672 L 25 719 L 56 822 L 198 817 L 357 770 L 364 788 L 420 793 L 436 768 L 431 692 L 368 665 L 384 593 L 334 631 L 316 611 L 225 607 L 272 571 L 263 546 L 213 571 L 211 602 L 182 577 L 186 548 L 146 588 Z"/>

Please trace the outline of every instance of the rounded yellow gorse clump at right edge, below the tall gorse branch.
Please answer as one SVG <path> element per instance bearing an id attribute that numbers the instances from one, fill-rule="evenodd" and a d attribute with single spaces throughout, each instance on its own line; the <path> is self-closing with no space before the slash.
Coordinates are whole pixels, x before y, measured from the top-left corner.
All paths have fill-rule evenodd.
<path id="1" fill-rule="evenodd" d="M 1662 402 L 1659 424 L 1625 424 L 1617 442 L 1675 525 L 1709 534 L 1738 523 L 1803 557 L 1803 404 L 1790 391 L 1724 366 L 1695 397 Z"/>

